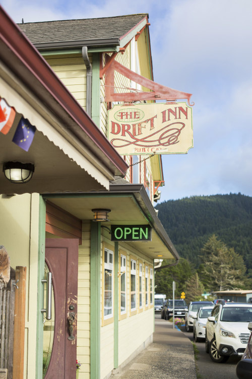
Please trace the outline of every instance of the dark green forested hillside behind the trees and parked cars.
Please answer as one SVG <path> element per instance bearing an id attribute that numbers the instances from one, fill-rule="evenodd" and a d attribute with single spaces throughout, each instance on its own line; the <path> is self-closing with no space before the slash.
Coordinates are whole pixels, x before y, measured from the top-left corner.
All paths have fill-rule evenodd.
<path id="1" fill-rule="evenodd" d="M 194 196 L 158 204 L 158 217 L 180 257 L 195 268 L 211 235 L 242 256 L 252 276 L 252 197 L 241 194 Z"/>

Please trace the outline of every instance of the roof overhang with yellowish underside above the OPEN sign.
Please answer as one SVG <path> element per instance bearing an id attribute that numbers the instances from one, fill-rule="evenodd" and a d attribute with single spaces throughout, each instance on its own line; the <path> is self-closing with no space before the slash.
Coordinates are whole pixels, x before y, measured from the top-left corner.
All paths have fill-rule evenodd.
<path id="1" fill-rule="evenodd" d="M 94 208 L 111 209 L 109 221 L 102 223 L 108 228 L 110 225 L 149 224 L 152 227 L 152 241 L 121 242 L 120 246 L 125 246 L 126 249 L 131 246 L 151 259 L 172 259 L 174 262 L 179 259 L 143 184 L 111 183 L 109 192 L 50 194 L 44 195 L 44 198 L 82 220 L 92 220 Z M 107 238 L 110 238 L 107 228 L 103 230 Z"/>

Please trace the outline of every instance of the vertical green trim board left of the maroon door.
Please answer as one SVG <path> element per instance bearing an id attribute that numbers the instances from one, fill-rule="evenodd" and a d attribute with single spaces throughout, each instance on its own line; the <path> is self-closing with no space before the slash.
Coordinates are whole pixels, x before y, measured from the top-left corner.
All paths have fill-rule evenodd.
<path id="1" fill-rule="evenodd" d="M 39 235 L 38 235 L 38 293 L 37 293 L 37 343 L 36 343 L 36 378 L 42 379 L 43 367 L 43 314 L 45 266 L 45 200 L 39 196 Z"/>

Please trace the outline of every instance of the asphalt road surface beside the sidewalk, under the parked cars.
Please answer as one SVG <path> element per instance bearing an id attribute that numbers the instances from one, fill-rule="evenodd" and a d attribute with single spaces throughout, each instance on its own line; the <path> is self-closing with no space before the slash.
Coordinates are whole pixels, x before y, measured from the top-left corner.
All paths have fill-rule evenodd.
<path id="1" fill-rule="evenodd" d="M 193 341 L 193 333 L 187 333 L 182 327 L 182 333 Z M 198 366 L 199 379 L 237 379 L 235 368 L 240 357 L 229 357 L 225 363 L 215 363 L 210 359 L 209 354 L 205 351 L 205 342 L 196 342 L 199 349 Z"/>

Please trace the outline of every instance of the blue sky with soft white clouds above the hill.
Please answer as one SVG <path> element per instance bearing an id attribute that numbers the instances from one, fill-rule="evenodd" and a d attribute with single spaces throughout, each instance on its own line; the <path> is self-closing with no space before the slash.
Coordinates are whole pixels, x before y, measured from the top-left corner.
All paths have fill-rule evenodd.
<path id="1" fill-rule="evenodd" d="M 149 13 L 154 80 L 193 93 L 194 148 L 163 155 L 161 202 L 252 196 L 252 1 L 81 0 L 0 4 L 15 22 Z"/>

